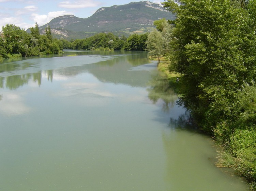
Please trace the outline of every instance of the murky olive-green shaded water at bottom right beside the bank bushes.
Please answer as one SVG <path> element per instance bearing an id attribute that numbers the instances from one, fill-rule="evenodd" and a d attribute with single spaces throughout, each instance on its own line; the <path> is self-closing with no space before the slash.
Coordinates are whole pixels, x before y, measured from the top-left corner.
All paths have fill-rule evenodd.
<path id="1" fill-rule="evenodd" d="M 171 190 L 246 190 L 242 178 L 215 167 L 217 152 L 213 140 L 195 130 L 188 120 L 187 114 L 171 119 L 169 128 L 162 131 L 165 178 L 171 182 Z M 219 178 L 213 180 L 212 174 L 218 174 Z"/>

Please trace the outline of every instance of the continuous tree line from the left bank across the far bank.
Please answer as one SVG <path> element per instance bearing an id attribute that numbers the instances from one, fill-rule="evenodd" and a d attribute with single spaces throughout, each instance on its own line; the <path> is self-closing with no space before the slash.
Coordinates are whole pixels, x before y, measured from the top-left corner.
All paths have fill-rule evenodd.
<path id="1" fill-rule="evenodd" d="M 49 26 L 41 35 L 37 23 L 30 31 L 29 34 L 14 24 L 3 26 L 0 36 L 0 61 L 10 57 L 58 54 L 63 49 L 145 51 L 148 39 L 148 33 L 132 34 L 128 38 L 112 33 L 99 33 L 89 38 L 68 41 L 53 38 Z"/>

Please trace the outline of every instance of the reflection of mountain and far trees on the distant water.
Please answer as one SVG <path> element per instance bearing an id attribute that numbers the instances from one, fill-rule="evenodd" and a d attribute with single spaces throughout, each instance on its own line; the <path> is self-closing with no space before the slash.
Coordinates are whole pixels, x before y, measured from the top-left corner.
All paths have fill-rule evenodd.
<path id="1" fill-rule="evenodd" d="M 47 80 L 52 82 L 55 76 L 74 77 L 89 72 L 102 82 L 128 84 L 132 87 L 146 87 L 149 80 L 150 76 L 146 71 L 141 72 L 139 76 L 135 71 L 127 72 L 131 66 L 148 63 L 146 52 L 76 51 L 75 53 L 78 56 L 66 57 L 74 54 L 74 51 L 67 51 L 63 55 L 33 57 L 29 61 L 20 58 L 15 62 L 6 60 L 0 64 L 0 88 L 15 90 L 28 84 L 30 80 L 40 86 L 42 74 L 46 74 Z M 84 57 L 85 55 L 87 57 Z M 66 57 L 65 61 L 63 57 Z M 65 62 L 68 64 L 67 67 Z"/>

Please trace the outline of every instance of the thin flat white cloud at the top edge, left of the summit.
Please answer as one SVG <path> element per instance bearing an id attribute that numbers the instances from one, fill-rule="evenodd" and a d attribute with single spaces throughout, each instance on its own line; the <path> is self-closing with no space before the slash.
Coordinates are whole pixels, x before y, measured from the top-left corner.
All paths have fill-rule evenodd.
<path id="1" fill-rule="evenodd" d="M 99 5 L 99 2 L 92 1 L 92 0 L 85 0 L 85 1 L 63 1 L 60 2 L 59 7 L 64 8 L 86 8 L 86 7 L 95 7 Z"/>

